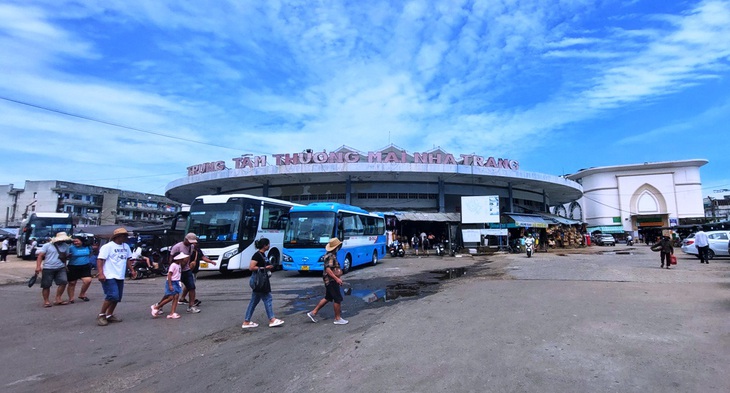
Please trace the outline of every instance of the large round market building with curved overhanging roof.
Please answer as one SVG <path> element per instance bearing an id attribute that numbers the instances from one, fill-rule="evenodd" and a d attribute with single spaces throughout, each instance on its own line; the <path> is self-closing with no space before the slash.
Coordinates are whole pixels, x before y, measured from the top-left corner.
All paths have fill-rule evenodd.
<path id="1" fill-rule="evenodd" d="M 546 228 L 556 223 L 550 206 L 582 195 L 577 182 L 524 171 L 509 158 L 442 149 L 411 153 L 395 145 L 369 152 L 342 146 L 332 152 L 242 155 L 187 169 L 186 177 L 168 184 L 168 198 L 191 203 L 199 195 L 244 193 L 303 204 L 347 203 L 384 213 L 389 226 L 403 234 L 442 233 L 445 224 L 461 222 L 462 197 L 485 195 L 497 198 L 502 217 L 482 228 Z M 580 217 L 563 221 L 579 223 Z"/>

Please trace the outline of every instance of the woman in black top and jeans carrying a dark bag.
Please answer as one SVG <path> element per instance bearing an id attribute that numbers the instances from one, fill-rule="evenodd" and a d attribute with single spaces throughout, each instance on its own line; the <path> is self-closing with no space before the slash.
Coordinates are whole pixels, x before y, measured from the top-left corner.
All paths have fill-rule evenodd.
<path id="1" fill-rule="evenodd" d="M 256 242 L 256 248 L 258 250 L 253 254 L 253 257 L 251 257 L 251 262 L 248 265 L 248 270 L 251 271 L 250 284 L 253 290 L 251 291 L 251 300 L 248 302 L 248 308 L 246 309 L 246 317 L 243 320 L 243 324 L 241 324 L 241 328 L 243 329 L 255 328 L 259 325 L 256 322 L 251 322 L 251 318 L 253 318 L 253 312 L 256 310 L 256 305 L 258 305 L 262 300 L 264 301 L 266 316 L 269 318 L 269 327 L 277 327 L 284 324 L 284 321 L 276 318 L 274 315 L 271 283 L 269 282 L 269 272 L 274 269 L 274 265 L 270 265 L 266 260 L 266 252 L 269 251 L 269 247 L 271 247 L 269 239 L 265 237 L 259 239 Z M 261 276 L 265 277 L 265 282 L 262 287 L 257 290 L 257 288 L 255 288 L 255 275 L 257 272 L 261 271 L 266 272 Z"/>

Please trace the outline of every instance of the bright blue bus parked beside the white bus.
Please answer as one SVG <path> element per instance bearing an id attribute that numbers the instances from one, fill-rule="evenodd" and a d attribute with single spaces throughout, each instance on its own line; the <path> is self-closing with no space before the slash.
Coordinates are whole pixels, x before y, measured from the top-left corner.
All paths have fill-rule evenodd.
<path id="1" fill-rule="evenodd" d="M 342 241 L 337 253 L 342 271 L 353 266 L 375 265 L 385 255 L 385 219 L 340 203 L 311 203 L 289 212 L 284 234 L 284 270 L 324 270 L 324 247 L 330 238 Z"/>

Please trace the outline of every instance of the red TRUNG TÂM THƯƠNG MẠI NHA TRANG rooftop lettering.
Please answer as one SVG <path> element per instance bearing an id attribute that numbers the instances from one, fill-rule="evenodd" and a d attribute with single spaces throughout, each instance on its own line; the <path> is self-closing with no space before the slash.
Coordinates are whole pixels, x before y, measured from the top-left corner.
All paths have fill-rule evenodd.
<path id="1" fill-rule="evenodd" d="M 323 150 L 321 152 L 305 151 L 303 153 L 285 153 L 272 154 L 274 165 L 284 167 L 289 165 L 306 165 L 306 164 L 345 164 L 356 162 L 368 163 L 384 163 L 384 164 L 444 164 L 444 165 L 468 165 L 486 168 L 501 168 L 509 170 L 519 170 L 520 163 L 507 158 L 482 157 L 475 154 L 460 154 L 458 161 L 453 154 L 450 153 L 413 153 L 409 155 L 405 151 L 371 151 L 367 155 L 358 152 L 330 152 Z M 268 165 L 268 156 L 253 156 L 244 154 L 241 157 L 234 157 L 233 168 L 258 168 Z M 225 169 L 224 161 L 204 162 L 189 166 L 188 176 L 199 175 L 202 173 L 217 172 Z"/>

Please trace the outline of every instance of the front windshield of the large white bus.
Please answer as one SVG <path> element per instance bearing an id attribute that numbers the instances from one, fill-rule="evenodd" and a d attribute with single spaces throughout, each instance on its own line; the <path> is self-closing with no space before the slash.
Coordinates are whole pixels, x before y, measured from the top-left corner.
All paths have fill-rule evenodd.
<path id="1" fill-rule="evenodd" d="M 198 235 L 203 247 L 233 244 L 239 240 L 242 214 L 243 206 L 239 203 L 193 204 L 188 231 Z"/>

